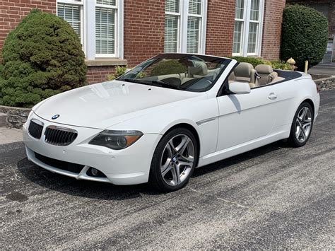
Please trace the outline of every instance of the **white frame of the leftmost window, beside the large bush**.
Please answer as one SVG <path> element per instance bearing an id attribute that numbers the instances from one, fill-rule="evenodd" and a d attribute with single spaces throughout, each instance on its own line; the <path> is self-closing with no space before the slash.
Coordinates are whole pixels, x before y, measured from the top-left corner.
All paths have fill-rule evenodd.
<path id="1" fill-rule="evenodd" d="M 97 4 L 96 0 L 57 0 L 57 4 L 81 6 L 81 44 L 86 59 L 99 58 L 124 59 L 124 0 L 116 0 L 115 6 Z M 95 8 L 116 8 L 114 54 L 95 53 Z M 57 13 L 58 14 L 58 13 Z"/>

